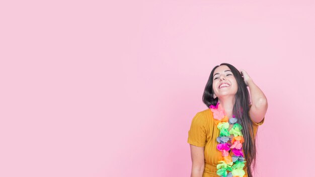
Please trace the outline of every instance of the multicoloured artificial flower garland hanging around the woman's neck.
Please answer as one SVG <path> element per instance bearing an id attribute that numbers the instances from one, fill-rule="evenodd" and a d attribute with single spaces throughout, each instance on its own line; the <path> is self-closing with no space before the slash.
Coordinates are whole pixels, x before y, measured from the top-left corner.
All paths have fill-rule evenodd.
<path id="1" fill-rule="evenodd" d="M 244 166 L 245 158 L 243 154 L 244 137 L 241 132 L 242 126 L 237 123 L 238 118 L 233 115 L 232 118 L 228 119 L 224 109 L 218 108 L 219 102 L 216 106 L 210 105 L 210 109 L 213 112 L 213 118 L 215 119 L 215 125 L 220 130 L 219 136 L 216 138 L 219 143 L 216 148 L 222 152 L 222 160 L 216 165 L 218 169 L 216 173 L 223 177 L 243 177 L 245 175 Z M 228 131 L 229 125 L 233 127 Z M 233 134 L 233 138 L 230 135 Z M 230 143 L 228 143 L 230 141 Z M 229 155 L 229 150 L 232 151 L 233 155 Z M 230 172 L 227 172 L 230 171 Z"/>

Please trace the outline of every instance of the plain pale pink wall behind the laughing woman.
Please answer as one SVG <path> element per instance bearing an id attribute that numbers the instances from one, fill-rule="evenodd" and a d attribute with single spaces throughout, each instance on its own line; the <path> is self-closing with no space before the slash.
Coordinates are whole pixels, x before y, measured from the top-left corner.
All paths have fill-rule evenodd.
<path id="1" fill-rule="evenodd" d="M 0 176 L 190 176 L 211 69 L 268 98 L 255 176 L 313 174 L 313 1 L 2 1 Z"/>

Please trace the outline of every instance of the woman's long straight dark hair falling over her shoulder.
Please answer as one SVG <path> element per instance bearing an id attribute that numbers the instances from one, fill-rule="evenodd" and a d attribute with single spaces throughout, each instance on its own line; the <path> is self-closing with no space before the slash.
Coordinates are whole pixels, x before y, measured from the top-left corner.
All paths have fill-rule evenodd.
<path id="1" fill-rule="evenodd" d="M 213 72 L 214 70 L 221 66 L 226 65 L 232 71 L 235 79 L 238 82 L 238 92 L 235 94 L 235 103 L 233 106 L 233 115 L 238 119 L 238 123 L 242 125 L 242 134 L 244 136 L 244 155 L 247 167 L 248 177 L 253 177 L 251 165 L 253 169 L 256 167 L 256 143 L 254 137 L 254 129 L 252 122 L 249 116 L 249 109 L 250 109 L 250 94 L 247 90 L 247 86 L 245 81 L 240 73 L 240 71 L 228 63 L 221 63 L 220 65 L 215 66 L 209 76 L 208 82 L 205 86 L 204 93 L 202 96 L 202 101 L 204 104 L 207 105 L 209 108 L 210 105 L 215 106 L 218 102 L 218 98 L 213 98 L 213 89 L 212 89 L 212 82 L 213 82 Z"/>

